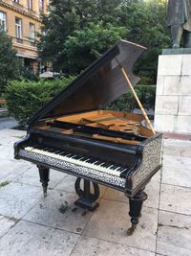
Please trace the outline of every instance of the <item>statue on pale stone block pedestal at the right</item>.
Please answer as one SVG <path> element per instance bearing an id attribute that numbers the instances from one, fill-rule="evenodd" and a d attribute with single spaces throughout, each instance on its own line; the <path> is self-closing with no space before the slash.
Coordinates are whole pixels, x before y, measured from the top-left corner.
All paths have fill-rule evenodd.
<path id="1" fill-rule="evenodd" d="M 191 0 L 168 1 L 167 25 L 173 49 L 159 56 L 155 128 L 191 134 Z"/>

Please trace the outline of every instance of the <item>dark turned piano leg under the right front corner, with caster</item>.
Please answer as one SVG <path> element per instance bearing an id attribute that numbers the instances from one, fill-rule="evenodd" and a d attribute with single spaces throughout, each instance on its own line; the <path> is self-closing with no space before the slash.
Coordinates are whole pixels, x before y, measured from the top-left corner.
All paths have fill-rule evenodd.
<path id="1" fill-rule="evenodd" d="M 132 226 L 127 230 L 128 236 L 131 236 L 137 228 L 138 219 L 141 216 L 142 204 L 146 198 L 147 195 L 142 190 L 140 190 L 133 198 L 129 198 L 129 216 L 131 217 Z"/>

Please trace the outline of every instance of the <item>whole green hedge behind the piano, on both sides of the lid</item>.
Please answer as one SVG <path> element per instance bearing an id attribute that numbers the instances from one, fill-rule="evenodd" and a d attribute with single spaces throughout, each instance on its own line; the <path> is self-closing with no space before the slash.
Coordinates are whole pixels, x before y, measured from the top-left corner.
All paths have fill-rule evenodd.
<path id="1" fill-rule="evenodd" d="M 11 81 L 6 87 L 4 98 L 8 110 L 21 125 L 32 117 L 42 106 L 49 102 L 55 94 L 66 87 L 74 77 L 53 81 Z M 156 87 L 152 85 L 136 86 L 138 98 L 145 107 L 154 107 Z M 131 112 L 137 103 L 131 92 L 124 94 L 105 109 Z"/>

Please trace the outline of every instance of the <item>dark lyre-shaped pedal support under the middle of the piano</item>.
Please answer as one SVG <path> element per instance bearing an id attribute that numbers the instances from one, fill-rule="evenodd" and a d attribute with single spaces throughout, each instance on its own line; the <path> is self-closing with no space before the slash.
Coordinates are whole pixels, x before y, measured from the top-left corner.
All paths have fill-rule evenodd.
<path id="1" fill-rule="evenodd" d="M 84 182 L 83 190 L 80 188 L 81 181 Z M 95 182 L 92 182 L 94 186 L 94 194 L 92 194 L 90 187 L 91 182 L 92 181 L 89 181 L 85 178 L 76 178 L 74 188 L 79 198 L 74 202 L 74 204 L 82 208 L 88 209 L 89 211 L 94 211 L 98 207 L 96 199 L 99 197 L 99 187 Z"/>

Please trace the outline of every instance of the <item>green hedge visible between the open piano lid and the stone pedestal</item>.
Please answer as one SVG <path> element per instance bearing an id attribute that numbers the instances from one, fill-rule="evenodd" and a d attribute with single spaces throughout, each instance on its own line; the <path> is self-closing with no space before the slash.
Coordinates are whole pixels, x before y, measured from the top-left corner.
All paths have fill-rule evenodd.
<path id="1" fill-rule="evenodd" d="M 156 99 L 156 86 L 152 85 L 138 85 L 135 87 L 138 94 L 140 103 L 146 108 L 154 108 Z M 134 108 L 138 107 L 136 99 L 132 92 L 122 95 L 106 109 L 115 111 L 131 112 Z"/>

